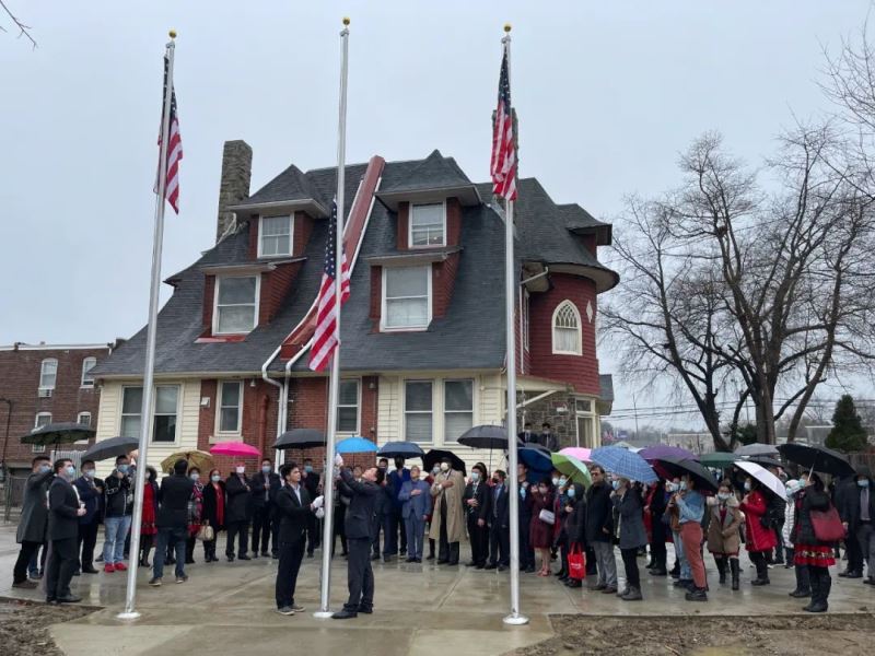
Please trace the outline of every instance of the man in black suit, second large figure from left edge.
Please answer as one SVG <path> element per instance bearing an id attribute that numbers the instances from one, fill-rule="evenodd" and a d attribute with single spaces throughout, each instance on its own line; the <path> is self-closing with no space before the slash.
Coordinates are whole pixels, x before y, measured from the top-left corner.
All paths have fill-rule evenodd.
<path id="1" fill-rule="evenodd" d="M 46 601 L 48 604 L 75 604 L 81 597 L 70 593 L 70 581 L 79 565 L 79 518 L 85 508 L 72 481 L 75 478 L 73 461 L 61 458 L 55 461 L 55 478 L 48 489 L 48 539 L 51 557 L 46 572 Z"/>

